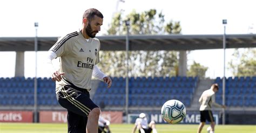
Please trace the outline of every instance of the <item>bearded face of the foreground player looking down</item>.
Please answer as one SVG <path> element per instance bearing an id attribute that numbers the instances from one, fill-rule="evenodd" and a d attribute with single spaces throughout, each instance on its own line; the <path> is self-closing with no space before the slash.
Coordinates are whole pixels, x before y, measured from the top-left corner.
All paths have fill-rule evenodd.
<path id="1" fill-rule="evenodd" d="M 100 26 L 103 24 L 103 19 L 95 16 L 90 23 L 86 26 L 85 31 L 90 38 L 95 38 L 96 34 L 100 31 Z"/>

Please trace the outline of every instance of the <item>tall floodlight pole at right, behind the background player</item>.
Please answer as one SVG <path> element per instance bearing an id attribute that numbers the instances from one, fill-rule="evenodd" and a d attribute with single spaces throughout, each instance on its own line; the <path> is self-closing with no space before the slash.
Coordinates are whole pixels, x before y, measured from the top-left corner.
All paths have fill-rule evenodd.
<path id="1" fill-rule="evenodd" d="M 222 102 L 223 105 L 225 105 L 225 88 L 226 88 L 226 24 L 227 20 L 223 19 L 223 25 L 224 25 L 224 34 L 223 34 L 223 50 L 224 50 L 224 71 L 223 71 L 223 98 Z M 225 124 L 225 108 L 223 108 L 223 116 L 222 116 L 222 124 Z"/>

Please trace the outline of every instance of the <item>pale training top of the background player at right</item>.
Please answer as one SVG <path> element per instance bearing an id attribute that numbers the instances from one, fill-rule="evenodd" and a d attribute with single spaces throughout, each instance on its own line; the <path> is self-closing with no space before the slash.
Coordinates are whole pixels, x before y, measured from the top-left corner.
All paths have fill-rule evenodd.
<path id="1" fill-rule="evenodd" d="M 213 90 L 209 89 L 203 92 L 199 102 L 201 104 L 200 111 L 203 110 L 212 110 L 212 105 L 215 107 L 222 107 L 221 105 L 215 102 L 215 93 Z"/>

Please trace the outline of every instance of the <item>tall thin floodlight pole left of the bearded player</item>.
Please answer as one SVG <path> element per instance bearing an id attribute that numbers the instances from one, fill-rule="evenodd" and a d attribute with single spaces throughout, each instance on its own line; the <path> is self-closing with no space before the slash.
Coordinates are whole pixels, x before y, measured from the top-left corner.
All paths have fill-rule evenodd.
<path id="1" fill-rule="evenodd" d="M 38 122 L 38 107 L 37 107 L 37 28 L 38 23 L 35 23 L 36 36 L 35 36 L 35 79 L 34 79 L 34 122 Z"/>

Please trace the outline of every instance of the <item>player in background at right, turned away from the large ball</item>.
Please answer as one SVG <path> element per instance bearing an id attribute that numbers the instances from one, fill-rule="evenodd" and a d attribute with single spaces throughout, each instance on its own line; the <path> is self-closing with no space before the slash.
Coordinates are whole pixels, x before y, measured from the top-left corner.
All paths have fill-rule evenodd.
<path id="1" fill-rule="evenodd" d="M 200 133 L 203 129 L 206 120 L 211 122 L 210 133 L 214 133 L 215 122 L 212 115 L 212 105 L 215 107 L 226 108 L 225 105 L 219 105 L 215 102 L 215 93 L 219 90 L 218 84 L 212 84 L 209 90 L 206 90 L 201 95 L 199 102 L 200 106 L 200 124 L 197 132 Z"/>

